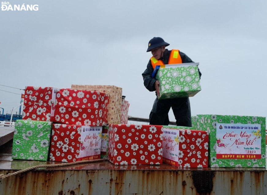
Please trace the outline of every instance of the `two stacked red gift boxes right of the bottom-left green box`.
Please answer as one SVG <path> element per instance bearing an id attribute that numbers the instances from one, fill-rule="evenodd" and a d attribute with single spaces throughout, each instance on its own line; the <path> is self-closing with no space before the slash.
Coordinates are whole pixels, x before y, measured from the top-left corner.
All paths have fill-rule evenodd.
<path id="1" fill-rule="evenodd" d="M 108 102 L 106 93 L 60 89 L 55 102 L 50 160 L 75 162 L 99 159 Z"/>

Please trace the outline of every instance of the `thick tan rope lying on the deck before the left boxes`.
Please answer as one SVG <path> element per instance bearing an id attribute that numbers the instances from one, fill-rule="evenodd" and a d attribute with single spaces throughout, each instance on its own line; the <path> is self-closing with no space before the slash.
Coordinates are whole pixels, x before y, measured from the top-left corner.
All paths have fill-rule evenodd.
<path id="1" fill-rule="evenodd" d="M 24 172 L 27 172 L 27 171 L 30 171 L 30 170 L 33 170 L 33 169 L 38 169 L 38 168 L 65 167 L 65 166 L 70 166 L 70 165 L 75 165 L 75 164 L 81 164 L 81 163 L 100 162 L 100 161 L 104 161 L 104 160 L 107 160 L 107 159 L 82 160 L 82 161 L 76 161 L 76 162 L 72 162 L 72 163 L 36 165 L 36 166 L 33 166 L 33 167 L 22 169 L 20 171 L 16 171 L 14 173 L 9 173 L 9 174 L 6 174 L 6 175 L 0 174 L 0 179 L 5 179 L 5 178 L 8 178 L 8 177 L 11 177 L 11 176 L 14 176 L 14 175 L 17 175 L 17 174 L 21 174 L 21 173 L 24 173 Z"/>

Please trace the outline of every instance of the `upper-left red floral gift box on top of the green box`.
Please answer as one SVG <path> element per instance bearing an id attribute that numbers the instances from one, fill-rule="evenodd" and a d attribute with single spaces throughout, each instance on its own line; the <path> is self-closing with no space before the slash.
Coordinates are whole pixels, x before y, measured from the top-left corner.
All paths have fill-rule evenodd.
<path id="1" fill-rule="evenodd" d="M 57 88 L 27 86 L 22 119 L 53 121 Z"/>

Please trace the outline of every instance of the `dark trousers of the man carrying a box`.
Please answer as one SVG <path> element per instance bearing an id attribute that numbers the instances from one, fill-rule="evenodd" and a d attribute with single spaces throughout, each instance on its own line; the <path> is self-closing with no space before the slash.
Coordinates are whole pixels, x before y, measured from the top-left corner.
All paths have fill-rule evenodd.
<path id="1" fill-rule="evenodd" d="M 191 127 L 191 110 L 189 98 L 162 99 L 154 101 L 152 111 L 149 114 L 150 125 L 168 125 L 168 113 L 172 108 L 177 126 Z"/>

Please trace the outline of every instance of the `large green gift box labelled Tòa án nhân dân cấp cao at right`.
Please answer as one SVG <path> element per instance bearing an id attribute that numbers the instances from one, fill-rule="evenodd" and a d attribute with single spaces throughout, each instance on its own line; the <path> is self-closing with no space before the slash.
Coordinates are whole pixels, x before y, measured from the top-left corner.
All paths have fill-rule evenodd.
<path id="1" fill-rule="evenodd" d="M 197 115 L 209 134 L 210 167 L 266 167 L 265 117 Z"/>

